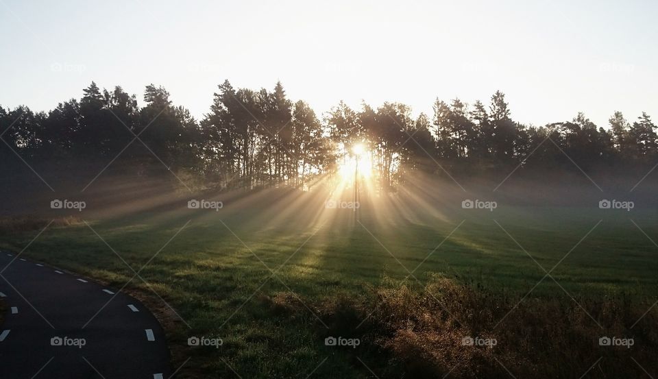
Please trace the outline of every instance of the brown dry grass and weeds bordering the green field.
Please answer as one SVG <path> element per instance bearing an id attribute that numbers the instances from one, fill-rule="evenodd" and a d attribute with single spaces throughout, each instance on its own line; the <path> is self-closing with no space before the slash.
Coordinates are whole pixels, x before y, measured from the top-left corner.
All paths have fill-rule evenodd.
<path id="1" fill-rule="evenodd" d="M 382 379 L 642 378 L 644 370 L 655 376 L 658 311 L 642 317 L 653 302 L 520 300 L 435 276 L 424 291 L 387 285 L 369 297 L 337 296 L 314 308 L 329 326 L 318 328 L 319 337 L 360 338 L 356 350 L 345 351 L 378 367 Z M 291 295 L 270 302 L 277 313 L 308 312 Z M 633 338 L 634 345 L 600 346 L 603 336 Z M 496 339 L 496 345 L 464 345 L 465 337 Z"/>

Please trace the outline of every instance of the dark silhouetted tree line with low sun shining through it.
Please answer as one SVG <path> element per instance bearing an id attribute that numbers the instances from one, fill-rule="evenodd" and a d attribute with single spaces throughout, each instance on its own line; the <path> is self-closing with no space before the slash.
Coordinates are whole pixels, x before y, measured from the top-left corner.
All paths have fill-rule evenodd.
<path id="1" fill-rule="evenodd" d="M 128 171 L 165 164 L 221 187 L 307 188 L 334 178 L 352 145 L 363 143 L 380 188 L 394 188 L 411 171 L 474 175 L 517 166 L 572 170 L 574 163 L 583 170 L 623 169 L 658 158 L 656 125 L 644 112 L 633 123 L 614 112 L 607 128 L 583 113 L 537 127 L 513 121 L 500 91 L 488 105 L 437 99 L 431 117 L 412 117 L 403 103 L 353 109 L 342 101 L 319 116 L 305 101 L 291 101 L 280 82 L 273 90 L 251 90 L 227 80 L 201 120 L 175 106 L 161 86 L 146 86 L 143 101 L 140 107 L 121 86 L 101 90 L 92 82 L 80 100 L 49 112 L 0 106 L 3 169 L 21 160 L 119 158 Z"/>

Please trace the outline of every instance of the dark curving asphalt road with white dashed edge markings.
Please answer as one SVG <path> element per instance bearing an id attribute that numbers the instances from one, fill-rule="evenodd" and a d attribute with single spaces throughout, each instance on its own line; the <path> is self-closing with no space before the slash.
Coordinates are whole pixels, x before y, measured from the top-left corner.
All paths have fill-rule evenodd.
<path id="1" fill-rule="evenodd" d="M 9 252 L 0 271 L 0 378 L 171 375 L 160 323 L 136 299 Z"/>

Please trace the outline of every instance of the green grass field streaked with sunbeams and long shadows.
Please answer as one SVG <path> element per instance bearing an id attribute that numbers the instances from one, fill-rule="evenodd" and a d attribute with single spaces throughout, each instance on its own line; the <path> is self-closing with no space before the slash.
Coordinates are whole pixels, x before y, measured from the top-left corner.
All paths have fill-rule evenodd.
<path id="1" fill-rule="evenodd" d="M 422 293 L 436 273 L 509 296 L 531 291 L 529 299 L 653 302 L 658 293 L 653 211 L 500 206 L 391 217 L 363 207 L 358 220 L 340 209 L 300 217 L 300 209 L 317 206 L 83 214 L 71 225 L 51 225 L 31 244 L 38 229 L 5 231 L 0 247 L 29 245 L 25 256 L 117 288 L 134 276 L 125 260 L 183 320 L 166 327 L 174 364 L 191 357 L 182 377 L 372 377 L 370 366 L 382 361 L 368 360 L 376 356 L 371 347 L 360 350 L 366 365 L 324 345 L 336 324 L 324 319 L 323 307 L 371 297 L 381 286 Z M 555 281 L 535 287 L 546 275 L 539 265 Z M 141 278 L 127 289 L 155 296 Z M 290 304 L 298 310 L 290 313 Z M 190 336 L 221 337 L 223 345 L 191 350 Z"/>

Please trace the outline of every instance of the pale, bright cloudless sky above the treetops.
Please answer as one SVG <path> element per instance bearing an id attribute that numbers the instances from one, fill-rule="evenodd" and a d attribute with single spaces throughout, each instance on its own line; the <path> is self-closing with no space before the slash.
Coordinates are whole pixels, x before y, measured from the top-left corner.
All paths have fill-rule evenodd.
<path id="1" fill-rule="evenodd" d="M 50 110 L 95 81 L 154 83 L 197 118 L 217 85 L 272 89 L 318 114 L 400 101 L 489 103 L 544 125 L 620 110 L 658 121 L 657 1 L 0 0 L 0 106 Z"/>

